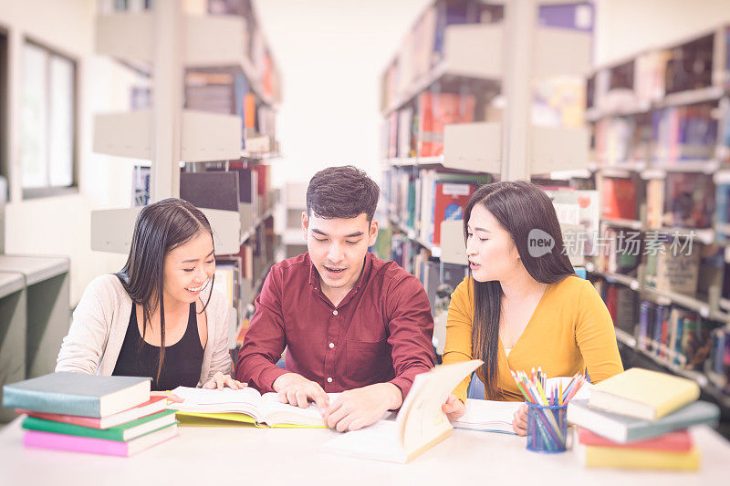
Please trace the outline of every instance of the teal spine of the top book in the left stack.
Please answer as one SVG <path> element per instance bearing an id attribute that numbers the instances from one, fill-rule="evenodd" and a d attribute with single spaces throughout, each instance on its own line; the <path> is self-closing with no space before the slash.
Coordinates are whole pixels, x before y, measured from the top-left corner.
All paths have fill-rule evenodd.
<path id="1" fill-rule="evenodd" d="M 97 397 L 48 393 L 8 386 L 3 387 L 3 406 L 24 408 L 34 412 L 101 418 L 100 401 Z"/>

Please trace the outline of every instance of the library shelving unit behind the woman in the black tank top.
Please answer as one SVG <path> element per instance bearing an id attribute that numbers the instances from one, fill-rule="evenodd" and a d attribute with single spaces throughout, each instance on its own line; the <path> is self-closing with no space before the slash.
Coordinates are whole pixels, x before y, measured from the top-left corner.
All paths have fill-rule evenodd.
<path id="1" fill-rule="evenodd" d="M 94 150 L 151 160 L 143 188 L 149 202 L 183 197 L 205 213 L 214 230 L 215 286 L 236 310 L 235 349 L 280 240 L 268 165 L 279 150 L 280 83 L 255 9 L 157 0 L 150 9 L 100 13 L 96 33 L 99 54 L 151 77 L 151 108 L 97 115 Z M 91 212 L 91 248 L 128 253 L 140 211 Z"/>

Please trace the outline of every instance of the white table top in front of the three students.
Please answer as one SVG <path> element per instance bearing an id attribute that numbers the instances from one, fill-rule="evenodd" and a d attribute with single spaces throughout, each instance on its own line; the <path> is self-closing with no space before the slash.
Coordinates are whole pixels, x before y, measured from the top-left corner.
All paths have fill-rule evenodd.
<path id="1" fill-rule="evenodd" d="M 705 426 L 692 429 L 702 450 L 696 472 L 587 470 L 575 449 L 561 454 L 526 450 L 513 435 L 454 429 L 451 437 L 408 464 L 359 460 L 319 452 L 335 437 L 328 429 L 182 426 L 179 436 L 131 458 L 26 449 L 21 419 L 0 430 L 0 484 L 114 485 L 483 485 L 730 483 L 730 443 Z M 578 482 L 572 482 L 578 484 Z"/>

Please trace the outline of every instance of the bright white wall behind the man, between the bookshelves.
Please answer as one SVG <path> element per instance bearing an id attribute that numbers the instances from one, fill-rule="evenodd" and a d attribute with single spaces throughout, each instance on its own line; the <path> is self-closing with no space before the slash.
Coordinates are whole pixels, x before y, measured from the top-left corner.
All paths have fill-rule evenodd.
<path id="1" fill-rule="evenodd" d="M 282 71 L 272 179 L 353 164 L 380 179 L 381 75 L 430 0 L 255 0 Z M 377 180 L 376 179 L 376 180 Z"/>

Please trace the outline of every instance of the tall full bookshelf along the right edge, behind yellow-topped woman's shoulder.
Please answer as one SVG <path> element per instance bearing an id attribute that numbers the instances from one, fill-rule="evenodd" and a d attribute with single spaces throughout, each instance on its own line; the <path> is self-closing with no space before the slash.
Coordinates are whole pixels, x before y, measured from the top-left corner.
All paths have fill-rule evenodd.
<path id="1" fill-rule="evenodd" d="M 730 28 L 718 26 L 597 67 L 587 82 L 586 112 L 593 133 L 589 171 L 604 205 L 601 232 L 622 229 L 642 238 L 633 260 L 621 260 L 620 250 L 612 264 L 599 258 L 587 265 L 609 308 L 613 301 L 624 309 L 614 315 L 622 351 L 694 379 L 724 413 L 730 409 L 728 49 Z M 687 250 L 687 258 L 669 252 L 652 258 L 656 242 L 691 243 L 700 256 L 690 261 Z"/>

